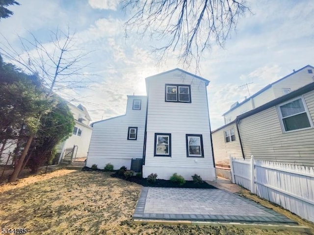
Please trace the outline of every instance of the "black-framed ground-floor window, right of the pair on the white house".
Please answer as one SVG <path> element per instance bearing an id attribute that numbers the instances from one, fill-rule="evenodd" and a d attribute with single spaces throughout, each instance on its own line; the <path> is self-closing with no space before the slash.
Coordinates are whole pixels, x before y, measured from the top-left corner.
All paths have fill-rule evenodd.
<path id="1" fill-rule="evenodd" d="M 204 158 L 202 135 L 186 134 L 186 156 Z"/>

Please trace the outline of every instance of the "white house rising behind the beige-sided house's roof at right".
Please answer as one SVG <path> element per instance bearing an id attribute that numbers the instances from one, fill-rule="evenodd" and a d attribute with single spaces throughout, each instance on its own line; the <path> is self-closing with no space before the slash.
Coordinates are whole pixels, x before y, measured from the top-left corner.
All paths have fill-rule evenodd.
<path id="1" fill-rule="evenodd" d="M 307 65 L 302 69 L 293 71 L 287 76 L 267 85 L 256 94 L 251 95 L 244 101 L 235 102 L 226 113 L 224 117 L 225 124 L 235 120 L 235 118 L 252 109 L 258 108 L 261 105 L 276 99 L 280 96 L 288 94 L 314 81 L 314 67 Z"/>

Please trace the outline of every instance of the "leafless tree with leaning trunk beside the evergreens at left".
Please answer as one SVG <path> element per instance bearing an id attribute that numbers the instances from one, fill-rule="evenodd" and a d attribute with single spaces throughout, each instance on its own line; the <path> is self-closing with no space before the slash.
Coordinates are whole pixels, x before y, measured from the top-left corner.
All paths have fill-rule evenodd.
<path id="1" fill-rule="evenodd" d="M 31 36 L 32 40 L 20 37 L 23 50 L 18 52 L 2 35 L 0 53 L 25 72 L 37 74 L 41 79 L 40 85 L 46 92 L 47 99 L 53 93 L 62 94 L 65 90 L 76 91 L 78 88 L 90 87 L 93 82 L 90 79 L 91 74 L 84 73 L 84 69 L 88 66 L 84 60 L 90 52 L 83 52 L 76 47 L 75 33 L 71 34 L 69 28 L 66 33 L 57 29 L 52 32 L 51 41 L 46 44 L 40 42 L 34 34 L 31 33 Z M 44 113 L 38 114 L 38 120 L 43 115 Z M 9 182 L 17 179 L 36 132 L 29 135 Z"/>

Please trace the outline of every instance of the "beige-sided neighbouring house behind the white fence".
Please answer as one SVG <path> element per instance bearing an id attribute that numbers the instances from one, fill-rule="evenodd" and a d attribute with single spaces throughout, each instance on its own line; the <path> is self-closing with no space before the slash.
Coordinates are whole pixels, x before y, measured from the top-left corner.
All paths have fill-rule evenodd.
<path id="1" fill-rule="evenodd" d="M 314 166 L 314 82 L 212 132 L 215 162 L 232 157 Z M 219 168 L 219 167 L 218 167 Z"/>

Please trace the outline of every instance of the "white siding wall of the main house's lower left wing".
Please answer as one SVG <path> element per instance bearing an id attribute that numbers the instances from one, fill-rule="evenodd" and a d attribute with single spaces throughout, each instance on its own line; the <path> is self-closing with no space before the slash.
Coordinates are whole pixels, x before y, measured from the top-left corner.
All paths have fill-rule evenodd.
<path id="1" fill-rule="evenodd" d="M 133 99 L 141 99 L 141 110 L 132 110 Z M 114 169 L 131 168 L 132 158 L 143 157 L 146 96 L 128 96 L 126 115 L 93 124 L 86 166 L 113 164 Z M 137 127 L 137 140 L 128 140 L 128 128 Z"/>

